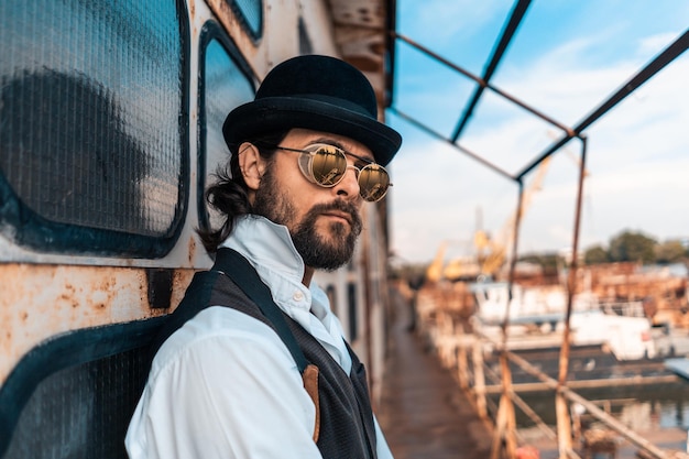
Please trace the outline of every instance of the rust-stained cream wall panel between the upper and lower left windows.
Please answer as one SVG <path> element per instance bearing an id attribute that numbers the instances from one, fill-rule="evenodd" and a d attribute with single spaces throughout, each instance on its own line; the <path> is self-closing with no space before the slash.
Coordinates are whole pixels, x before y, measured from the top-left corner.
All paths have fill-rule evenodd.
<path id="1" fill-rule="evenodd" d="M 176 307 L 194 270 L 173 273 Z M 144 269 L 0 264 L 0 382 L 36 345 L 69 330 L 141 320 L 172 310 L 147 303 Z"/>

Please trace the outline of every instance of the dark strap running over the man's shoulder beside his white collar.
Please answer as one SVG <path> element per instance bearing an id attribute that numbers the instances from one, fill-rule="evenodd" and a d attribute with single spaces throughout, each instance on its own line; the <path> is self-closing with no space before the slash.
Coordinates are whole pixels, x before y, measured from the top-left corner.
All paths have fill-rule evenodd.
<path id="1" fill-rule="evenodd" d="M 308 360 L 299 348 L 296 338 L 282 310 L 275 305 L 270 288 L 261 281 L 256 270 L 240 253 L 232 249 L 218 249 L 212 271 L 230 277 L 244 294 L 259 306 L 261 313 L 275 328 L 277 336 L 285 343 L 299 369 L 299 373 L 308 367 Z"/>

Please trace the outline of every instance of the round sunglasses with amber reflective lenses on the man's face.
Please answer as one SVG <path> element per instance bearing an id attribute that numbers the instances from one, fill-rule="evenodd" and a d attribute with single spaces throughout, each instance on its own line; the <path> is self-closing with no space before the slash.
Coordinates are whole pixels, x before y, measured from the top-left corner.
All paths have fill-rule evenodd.
<path id="1" fill-rule="evenodd" d="M 375 164 L 371 160 L 357 156 L 335 145 L 327 143 L 314 143 L 304 150 L 288 149 L 286 146 L 272 145 L 276 150 L 302 153 L 299 155 L 299 170 L 310 183 L 331 188 L 342 182 L 348 168 L 357 171 L 359 194 L 369 201 L 375 203 L 385 196 L 387 188 L 392 186 L 390 175 L 385 167 Z M 347 164 L 347 155 L 359 161 L 359 165 Z M 364 165 L 362 165 L 364 164 Z"/>

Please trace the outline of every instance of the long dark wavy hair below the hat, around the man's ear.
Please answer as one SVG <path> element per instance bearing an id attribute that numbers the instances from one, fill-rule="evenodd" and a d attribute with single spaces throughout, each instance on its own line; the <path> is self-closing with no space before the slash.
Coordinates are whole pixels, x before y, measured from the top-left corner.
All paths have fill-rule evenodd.
<path id="1" fill-rule="evenodd" d="M 261 156 L 270 162 L 275 150 L 261 145 L 278 145 L 287 133 L 288 131 L 280 131 L 263 134 L 253 139 L 247 139 L 230 147 L 230 161 L 216 170 L 214 174 L 216 182 L 204 194 L 208 205 L 218 210 L 225 220 L 218 229 L 198 228 L 196 230 L 208 253 L 215 253 L 218 250 L 218 245 L 230 237 L 238 217 L 253 214 L 251 203 L 249 203 L 247 183 L 239 168 L 239 145 L 243 142 L 253 143 L 259 149 Z"/>

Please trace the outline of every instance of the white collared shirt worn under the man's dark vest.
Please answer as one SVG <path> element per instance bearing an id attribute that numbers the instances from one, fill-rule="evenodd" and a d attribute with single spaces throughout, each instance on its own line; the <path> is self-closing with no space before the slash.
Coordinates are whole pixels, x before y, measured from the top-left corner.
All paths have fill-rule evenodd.
<path id="1" fill-rule="evenodd" d="M 302 284 L 304 262 L 287 229 L 244 217 L 222 245 L 249 260 L 275 304 L 349 374 L 340 321 L 322 289 Z M 392 459 L 374 423 L 378 457 Z M 211 306 L 158 350 L 125 446 L 131 459 L 321 458 L 314 426 L 314 404 L 280 337 L 243 313 Z"/>

